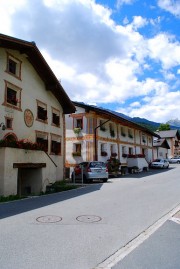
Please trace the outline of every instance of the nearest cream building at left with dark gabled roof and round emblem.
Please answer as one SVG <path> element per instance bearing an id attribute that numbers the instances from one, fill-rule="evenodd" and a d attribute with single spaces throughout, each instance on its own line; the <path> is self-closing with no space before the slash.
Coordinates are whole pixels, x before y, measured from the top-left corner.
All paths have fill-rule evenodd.
<path id="1" fill-rule="evenodd" d="M 64 115 L 75 107 L 36 44 L 2 34 L 0 89 L 0 195 L 44 191 L 64 178 Z"/>

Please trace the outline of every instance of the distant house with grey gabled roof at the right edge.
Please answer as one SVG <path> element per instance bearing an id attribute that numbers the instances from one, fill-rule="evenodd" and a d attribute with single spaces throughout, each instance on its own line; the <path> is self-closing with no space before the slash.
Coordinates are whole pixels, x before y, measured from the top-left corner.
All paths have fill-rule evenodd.
<path id="1" fill-rule="evenodd" d="M 180 133 L 178 130 L 158 131 L 156 134 L 167 140 L 170 147 L 168 149 L 168 158 L 180 156 Z"/>

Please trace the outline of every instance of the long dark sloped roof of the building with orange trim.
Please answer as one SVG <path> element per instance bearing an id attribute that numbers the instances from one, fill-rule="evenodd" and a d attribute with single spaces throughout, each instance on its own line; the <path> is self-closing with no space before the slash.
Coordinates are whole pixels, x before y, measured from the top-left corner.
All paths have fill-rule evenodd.
<path id="1" fill-rule="evenodd" d="M 111 111 L 111 110 L 100 108 L 100 107 L 93 106 L 93 105 L 88 105 L 88 104 L 85 104 L 83 102 L 73 101 L 73 104 L 75 106 L 82 107 L 82 108 L 84 108 L 87 111 L 90 111 L 91 110 L 91 111 L 96 112 L 99 115 L 104 115 L 104 116 L 106 116 L 109 119 L 114 119 L 114 120 L 117 120 L 117 121 L 121 121 L 126 126 L 134 127 L 136 129 L 141 130 L 141 131 L 144 131 L 144 132 L 146 132 L 146 133 L 148 133 L 148 134 L 150 134 L 152 136 L 159 137 L 158 134 L 152 132 L 148 128 L 145 128 L 145 127 L 143 127 L 143 126 L 141 126 L 141 125 L 139 125 L 139 124 L 131 121 L 128 116 L 125 116 L 125 115 L 122 116 L 122 114 L 119 114 L 119 113 L 117 113 L 115 111 Z"/>

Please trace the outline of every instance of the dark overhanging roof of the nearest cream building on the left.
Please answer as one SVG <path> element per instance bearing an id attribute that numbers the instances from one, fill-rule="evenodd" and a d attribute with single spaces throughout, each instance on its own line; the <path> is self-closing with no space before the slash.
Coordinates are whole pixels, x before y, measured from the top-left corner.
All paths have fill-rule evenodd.
<path id="1" fill-rule="evenodd" d="M 40 78 L 44 81 L 46 89 L 50 90 L 63 108 L 64 114 L 75 112 L 75 107 L 61 86 L 59 80 L 45 61 L 35 42 L 28 42 L 18 38 L 0 34 L 0 47 L 18 50 L 27 55 Z"/>

